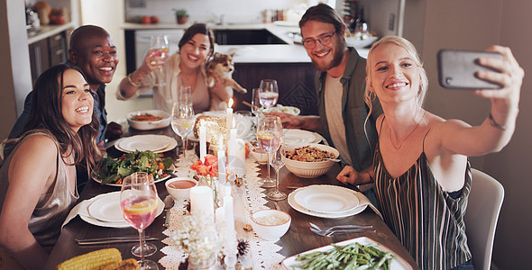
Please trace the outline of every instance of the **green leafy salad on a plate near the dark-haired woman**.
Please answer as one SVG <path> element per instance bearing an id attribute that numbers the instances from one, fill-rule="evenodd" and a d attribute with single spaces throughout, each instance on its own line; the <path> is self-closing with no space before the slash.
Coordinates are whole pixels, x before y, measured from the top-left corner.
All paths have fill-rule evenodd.
<path id="1" fill-rule="evenodd" d="M 172 165 L 171 157 L 163 158 L 161 154 L 150 150 L 136 150 L 117 159 L 105 155 L 93 176 L 101 180 L 101 184 L 122 184 L 124 177 L 135 172 L 146 172 L 153 175 L 153 180 L 157 181 L 172 172 Z"/>

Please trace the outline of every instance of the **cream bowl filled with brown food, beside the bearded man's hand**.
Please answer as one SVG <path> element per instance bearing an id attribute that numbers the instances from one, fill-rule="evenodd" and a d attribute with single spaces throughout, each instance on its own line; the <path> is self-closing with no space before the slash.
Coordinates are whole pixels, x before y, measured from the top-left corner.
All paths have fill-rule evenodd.
<path id="1" fill-rule="evenodd" d="M 317 143 L 289 144 L 286 149 L 286 164 L 289 171 L 303 178 L 314 178 L 326 174 L 340 152 L 335 148 Z"/>

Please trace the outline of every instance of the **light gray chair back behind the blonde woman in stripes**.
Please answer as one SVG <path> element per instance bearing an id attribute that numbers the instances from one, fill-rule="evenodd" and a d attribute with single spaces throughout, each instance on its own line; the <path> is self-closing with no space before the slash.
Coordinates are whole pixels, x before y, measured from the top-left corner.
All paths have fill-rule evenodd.
<path id="1" fill-rule="evenodd" d="M 464 221 L 467 244 L 475 269 L 490 269 L 493 238 L 503 199 L 502 184 L 473 168 L 471 193 Z"/>

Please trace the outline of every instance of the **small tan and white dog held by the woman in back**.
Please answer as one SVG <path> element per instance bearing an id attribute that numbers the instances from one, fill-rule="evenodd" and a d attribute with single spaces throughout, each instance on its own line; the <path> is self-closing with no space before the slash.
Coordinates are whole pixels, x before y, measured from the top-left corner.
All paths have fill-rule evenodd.
<path id="1" fill-rule="evenodd" d="M 213 87 L 215 85 L 216 79 L 218 79 L 222 81 L 225 86 L 231 86 L 231 88 L 243 94 L 247 93 L 247 90 L 233 79 L 233 56 L 234 54 L 229 55 L 216 52 L 213 58 L 207 62 L 206 83 L 209 88 Z M 231 90 L 231 93 L 228 94 L 229 97 L 233 97 L 233 90 Z M 216 94 L 211 93 L 209 110 L 222 111 L 226 108 L 227 102 L 224 102 Z"/>

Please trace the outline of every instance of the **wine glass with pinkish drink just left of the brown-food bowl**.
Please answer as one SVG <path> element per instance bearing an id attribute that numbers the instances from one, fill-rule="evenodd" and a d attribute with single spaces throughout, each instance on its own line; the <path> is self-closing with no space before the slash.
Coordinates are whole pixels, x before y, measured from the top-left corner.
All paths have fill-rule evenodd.
<path id="1" fill-rule="evenodd" d="M 271 153 L 280 146 L 282 136 L 282 123 L 279 116 L 262 115 L 259 118 L 257 127 L 257 142 L 259 146 L 268 153 L 268 160 L 271 159 Z M 262 187 L 275 187 L 275 182 L 271 180 L 270 165 L 268 164 L 268 179 L 263 180 Z"/>

